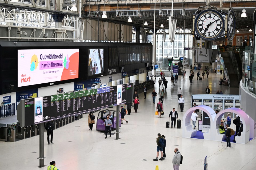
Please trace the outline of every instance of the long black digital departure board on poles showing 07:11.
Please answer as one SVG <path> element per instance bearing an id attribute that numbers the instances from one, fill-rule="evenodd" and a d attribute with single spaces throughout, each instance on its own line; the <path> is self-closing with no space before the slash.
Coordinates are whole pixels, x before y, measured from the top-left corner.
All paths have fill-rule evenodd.
<path id="1" fill-rule="evenodd" d="M 21 100 L 17 119 L 30 126 L 133 101 L 133 84 Z M 24 117 L 24 119 L 22 119 Z"/>

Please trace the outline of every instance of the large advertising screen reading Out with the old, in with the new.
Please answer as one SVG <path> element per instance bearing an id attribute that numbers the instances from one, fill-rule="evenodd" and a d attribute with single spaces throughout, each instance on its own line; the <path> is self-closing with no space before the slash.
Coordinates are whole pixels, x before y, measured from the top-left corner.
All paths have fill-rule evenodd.
<path id="1" fill-rule="evenodd" d="M 79 49 L 18 50 L 18 87 L 78 78 Z"/>

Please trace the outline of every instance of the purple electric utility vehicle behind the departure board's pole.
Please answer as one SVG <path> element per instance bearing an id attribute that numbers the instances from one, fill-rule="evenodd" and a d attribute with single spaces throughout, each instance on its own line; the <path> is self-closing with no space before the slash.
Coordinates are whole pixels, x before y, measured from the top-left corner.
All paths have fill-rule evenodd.
<path id="1" fill-rule="evenodd" d="M 112 121 L 111 131 L 117 128 L 117 111 L 110 111 L 109 109 L 99 111 L 97 117 L 96 130 L 105 131 L 104 121 L 107 119 L 107 115 L 111 114 L 110 120 Z M 119 111 L 119 127 L 121 127 L 121 113 Z"/>

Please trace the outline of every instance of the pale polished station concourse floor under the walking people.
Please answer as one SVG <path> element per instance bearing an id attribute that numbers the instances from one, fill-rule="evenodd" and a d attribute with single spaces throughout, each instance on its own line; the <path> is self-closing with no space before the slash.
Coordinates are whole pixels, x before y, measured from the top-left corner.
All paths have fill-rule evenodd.
<path id="1" fill-rule="evenodd" d="M 87 114 L 84 118 L 54 130 L 53 145 L 47 145 L 46 133 L 44 144 L 45 165 L 55 161 L 59 170 L 90 169 L 90 170 L 130 170 L 130 169 L 173 169 L 172 158 L 174 148 L 178 147 L 183 155 L 183 164 L 180 169 L 203 169 L 204 158 L 208 156 L 208 169 L 247 170 L 256 169 L 256 141 L 253 139 L 246 145 L 231 143 L 226 148 L 226 142 L 207 141 L 203 139 L 182 138 L 182 129 L 165 128 L 171 109 L 177 108 L 179 118 L 183 118 L 185 110 L 191 106 L 191 94 L 205 94 L 206 86 L 210 87 L 211 94 L 222 90 L 224 94 L 238 94 L 239 88 L 229 88 L 219 85 L 219 75 L 210 73 L 209 78 L 203 80 L 193 79 L 189 85 L 189 70 L 184 78 L 179 76 L 178 83 L 171 86 L 170 78 L 166 96 L 163 103 L 165 115 L 158 118 L 155 115 L 156 104 L 153 104 L 151 91 L 148 90 L 146 99 L 139 94 L 140 104 L 138 112 L 132 110 L 126 115 L 128 124 L 120 128 L 120 139 L 115 135 L 105 139 L 105 135 L 89 130 Z M 182 88 L 185 98 L 184 112 L 179 112 L 177 91 Z M 162 88 L 162 87 L 161 87 Z M 155 90 L 160 94 L 156 82 Z M 114 108 L 113 108 L 114 109 Z M 97 116 L 97 113 L 96 113 Z M 232 126 L 231 126 L 232 127 Z M 114 131 L 112 132 L 114 133 Z M 161 133 L 166 136 L 166 159 L 155 162 L 156 138 Z M 39 136 L 27 138 L 17 142 L 0 142 L 1 169 L 46 169 L 39 166 Z M 35 153 L 34 153 L 35 152 Z M 160 158 L 160 156 L 159 156 Z"/>

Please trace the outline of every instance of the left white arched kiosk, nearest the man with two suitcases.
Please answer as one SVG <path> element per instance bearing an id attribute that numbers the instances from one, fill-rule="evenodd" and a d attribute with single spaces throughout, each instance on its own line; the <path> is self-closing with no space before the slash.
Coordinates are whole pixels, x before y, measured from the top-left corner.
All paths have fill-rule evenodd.
<path id="1" fill-rule="evenodd" d="M 186 113 L 183 116 L 183 124 L 182 124 L 182 137 L 184 138 L 191 138 L 194 137 L 197 134 L 197 130 L 193 130 L 193 125 L 191 125 L 190 122 L 192 122 L 190 120 L 192 113 L 194 112 L 195 109 L 199 109 L 204 111 L 210 118 L 211 121 L 211 128 L 215 127 L 213 126 L 213 122 L 214 122 L 214 118 L 216 116 L 216 113 L 214 112 L 214 110 L 208 106 L 205 105 L 200 105 L 197 107 L 192 107 L 190 109 L 188 109 L 186 111 Z M 204 139 L 207 140 L 213 140 L 213 133 L 212 133 L 212 129 L 209 129 L 208 132 L 203 133 L 203 137 Z"/>

